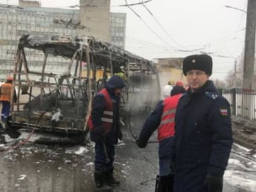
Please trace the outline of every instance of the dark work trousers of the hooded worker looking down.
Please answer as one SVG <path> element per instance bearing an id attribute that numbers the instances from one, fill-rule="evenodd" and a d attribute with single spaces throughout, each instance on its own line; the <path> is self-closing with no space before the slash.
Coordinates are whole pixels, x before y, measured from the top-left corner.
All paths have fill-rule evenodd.
<path id="1" fill-rule="evenodd" d="M 107 155 L 109 158 L 109 162 L 107 162 L 107 158 L 104 152 L 103 143 L 95 143 L 94 151 L 95 151 L 95 160 L 94 160 L 94 168 L 95 171 L 108 171 L 113 168 L 113 162 L 115 159 L 115 146 L 113 144 L 105 144 L 107 149 Z"/>

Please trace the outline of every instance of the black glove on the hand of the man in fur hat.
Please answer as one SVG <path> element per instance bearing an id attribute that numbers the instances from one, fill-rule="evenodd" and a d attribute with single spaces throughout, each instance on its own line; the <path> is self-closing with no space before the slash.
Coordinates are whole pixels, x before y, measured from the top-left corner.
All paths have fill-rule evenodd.
<path id="1" fill-rule="evenodd" d="M 205 177 L 205 185 L 209 192 L 222 192 L 223 177 L 209 176 Z"/>

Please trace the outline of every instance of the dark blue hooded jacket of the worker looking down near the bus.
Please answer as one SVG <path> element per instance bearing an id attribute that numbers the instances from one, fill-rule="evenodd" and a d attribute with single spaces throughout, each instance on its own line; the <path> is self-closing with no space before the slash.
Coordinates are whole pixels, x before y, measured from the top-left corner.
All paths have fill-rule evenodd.
<path id="1" fill-rule="evenodd" d="M 107 89 L 110 98 L 113 102 L 113 123 L 110 132 L 107 134 L 102 127 L 102 117 L 106 107 L 106 101 L 103 94 L 98 93 L 93 98 L 93 105 L 91 110 L 91 121 L 94 129 L 90 131 L 90 138 L 94 142 L 105 141 L 106 144 L 116 144 L 118 142 L 118 135 L 120 134 L 119 127 L 119 97 L 115 95 L 116 88 L 123 88 L 125 86 L 121 77 L 113 76 L 108 80 L 105 88 Z"/>

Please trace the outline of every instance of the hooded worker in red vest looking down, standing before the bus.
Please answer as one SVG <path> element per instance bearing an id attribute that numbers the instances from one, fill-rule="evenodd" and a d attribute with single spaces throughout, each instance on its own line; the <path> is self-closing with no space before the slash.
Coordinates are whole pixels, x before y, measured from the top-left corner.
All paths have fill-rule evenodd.
<path id="1" fill-rule="evenodd" d="M 91 115 L 88 120 L 91 141 L 95 142 L 94 182 L 96 190 L 110 190 L 119 185 L 113 177 L 115 144 L 123 135 L 119 126 L 119 104 L 121 89 L 126 84 L 119 76 L 112 76 L 105 88 L 93 98 Z"/>

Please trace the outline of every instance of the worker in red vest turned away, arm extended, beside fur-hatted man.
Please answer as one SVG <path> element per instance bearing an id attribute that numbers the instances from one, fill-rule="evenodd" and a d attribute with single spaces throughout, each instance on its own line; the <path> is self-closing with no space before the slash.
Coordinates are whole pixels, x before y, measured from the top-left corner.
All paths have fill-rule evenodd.
<path id="1" fill-rule="evenodd" d="M 171 146 L 174 142 L 174 118 L 179 98 L 185 93 L 183 84 L 176 84 L 171 90 L 171 96 L 160 101 L 155 110 L 148 116 L 141 130 L 140 137 L 136 141 L 139 148 L 145 148 L 152 133 L 158 129 L 158 157 L 159 175 L 155 191 L 171 192 L 173 172 L 171 170 Z M 170 93 L 169 93 L 170 94 Z"/>

